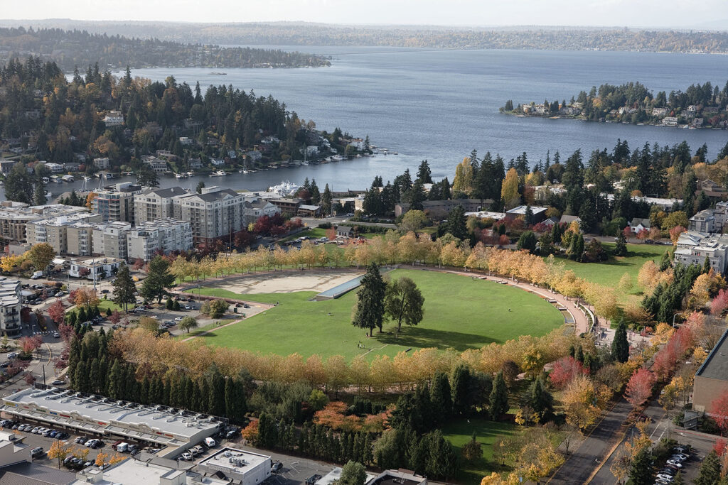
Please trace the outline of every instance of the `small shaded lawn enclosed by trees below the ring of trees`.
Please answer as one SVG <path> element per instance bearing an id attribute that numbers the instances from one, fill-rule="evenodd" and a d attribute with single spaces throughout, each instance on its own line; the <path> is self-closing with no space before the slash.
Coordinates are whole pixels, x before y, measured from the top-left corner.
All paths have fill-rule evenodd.
<path id="1" fill-rule="evenodd" d="M 458 454 L 462 457 L 461 449 L 472 438 L 480 443 L 483 449 L 483 457 L 472 463 L 463 462 L 462 473 L 458 481 L 464 484 L 480 484 L 484 476 L 492 472 L 503 470 L 500 463 L 493 461 L 493 444 L 500 436 L 513 436 L 521 433 L 521 429 L 513 422 L 491 421 L 480 417 L 454 420 L 442 426 L 443 436 L 456 447 Z"/>

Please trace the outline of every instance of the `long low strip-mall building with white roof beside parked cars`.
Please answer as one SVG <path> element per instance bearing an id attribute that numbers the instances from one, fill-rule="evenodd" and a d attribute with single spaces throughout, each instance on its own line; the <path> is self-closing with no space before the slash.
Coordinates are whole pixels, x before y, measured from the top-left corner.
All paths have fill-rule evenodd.
<path id="1" fill-rule="evenodd" d="M 159 452 L 160 457 L 176 456 L 226 425 L 226 420 L 181 409 L 114 401 L 41 385 L 3 398 L 0 409 L 28 422 L 72 433 L 159 444 L 166 447 Z"/>

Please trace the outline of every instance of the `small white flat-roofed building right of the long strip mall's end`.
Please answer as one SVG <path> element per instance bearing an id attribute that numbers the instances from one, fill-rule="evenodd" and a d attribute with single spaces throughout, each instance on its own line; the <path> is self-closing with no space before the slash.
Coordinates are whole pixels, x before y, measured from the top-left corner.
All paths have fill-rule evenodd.
<path id="1" fill-rule="evenodd" d="M 245 452 L 242 449 L 223 448 L 197 465 L 202 473 L 223 473 L 241 485 L 261 484 L 271 476 L 271 457 Z"/>

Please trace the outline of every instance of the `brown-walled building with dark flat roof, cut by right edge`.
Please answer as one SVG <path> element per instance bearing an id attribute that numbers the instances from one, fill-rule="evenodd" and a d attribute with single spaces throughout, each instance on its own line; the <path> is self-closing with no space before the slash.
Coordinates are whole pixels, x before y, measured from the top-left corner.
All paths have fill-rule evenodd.
<path id="1" fill-rule="evenodd" d="M 728 330 L 697 369 L 692 390 L 692 409 L 711 413 L 711 403 L 728 391 Z"/>

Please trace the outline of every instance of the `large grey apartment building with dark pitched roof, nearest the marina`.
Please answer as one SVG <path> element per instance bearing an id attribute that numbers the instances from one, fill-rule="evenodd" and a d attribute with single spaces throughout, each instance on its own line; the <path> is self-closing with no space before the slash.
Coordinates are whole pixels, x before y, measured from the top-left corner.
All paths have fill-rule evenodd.
<path id="1" fill-rule="evenodd" d="M 245 228 L 245 196 L 232 189 L 207 187 L 174 198 L 175 219 L 191 225 L 194 244 L 210 243 Z"/>

